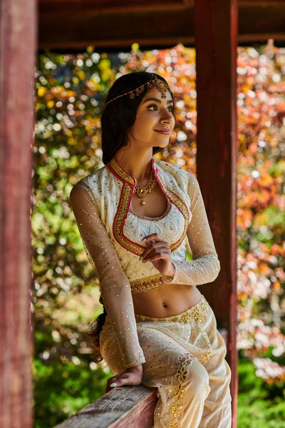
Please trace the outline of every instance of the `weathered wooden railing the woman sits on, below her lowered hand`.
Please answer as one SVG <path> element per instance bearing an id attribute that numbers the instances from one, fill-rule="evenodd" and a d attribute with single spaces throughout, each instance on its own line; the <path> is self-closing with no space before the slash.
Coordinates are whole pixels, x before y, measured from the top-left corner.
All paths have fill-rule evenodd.
<path id="1" fill-rule="evenodd" d="M 219 328 L 227 344 L 227 330 Z M 111 389 L 54 428 L 152 428 L 157 388 Z"/>

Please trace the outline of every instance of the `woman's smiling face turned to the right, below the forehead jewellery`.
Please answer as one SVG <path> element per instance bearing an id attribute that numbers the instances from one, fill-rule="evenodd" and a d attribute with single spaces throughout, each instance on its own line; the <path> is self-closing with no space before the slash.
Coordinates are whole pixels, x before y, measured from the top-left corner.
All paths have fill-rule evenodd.
<path id="1" fill-rule="evenodd" d="M 169 91 L 166 91 L 165 96 L 166 98 L 162 98 L 160 91 L 154 87 L 142 98 L 129 134 L 130 141 L 135 142 L 136 148 L 165 147 L 169 143 L 175 127 L 172 113 L 174 104 Z M 163 129 L 168 130 L 168 133 L 157 132 Z"/>

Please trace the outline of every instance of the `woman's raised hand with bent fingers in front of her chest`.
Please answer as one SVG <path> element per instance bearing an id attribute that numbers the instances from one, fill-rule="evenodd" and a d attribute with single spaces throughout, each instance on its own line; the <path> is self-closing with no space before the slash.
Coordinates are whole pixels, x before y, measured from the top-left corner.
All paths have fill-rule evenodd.
<path id="1" fill-rule="evenodd" d="M 140 260 L 151 262 L 162 275 L 173 277 L 175 275 L 175 265 L 171 261 L 169 243 L 157 233 L 145 236 L 144 240 L 147 247 L 140 256 Z"/>

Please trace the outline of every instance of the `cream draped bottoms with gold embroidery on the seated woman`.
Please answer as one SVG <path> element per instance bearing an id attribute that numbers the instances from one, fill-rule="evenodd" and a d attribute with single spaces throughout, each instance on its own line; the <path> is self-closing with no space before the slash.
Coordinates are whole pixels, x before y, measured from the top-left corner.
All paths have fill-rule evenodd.
<path id="1" fill-rule="evenodd" d="M 154 428 L 231 428 L 227 348 L 204 295 L 179 315 L 135 319 L 146 360 L 142 384 L 157 387 Z M 114 374 L 125 371 L 108 315 L 100 352 Z"/>

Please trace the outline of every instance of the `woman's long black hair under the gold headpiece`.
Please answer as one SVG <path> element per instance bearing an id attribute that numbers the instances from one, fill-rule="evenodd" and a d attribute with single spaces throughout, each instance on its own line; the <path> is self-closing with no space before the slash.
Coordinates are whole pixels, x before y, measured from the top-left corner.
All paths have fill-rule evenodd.
<path id="1" fill-rule="evenodd" d="M 135 73 L 128 73 L 120 76 L 110 87 L 106 98 L 106 103 L 113 100 L 119 95 L 133 89 L 138 88 L 144 83 L 153 80 L 155 75 L 161 81 L 167 83 L 165 78 L 156 73 L 147 73 L 147 71 L 138 71 Z M 167 83 L 168 85 L 168 83 Z M 145 96 L 145 93 L 149 90 L 147 85 L 143 87 L 143 91 L 140 95 L 135 98 L 130 98 L 130 95 L 120 96 L 116 100 L 105 105 L 103 113 L 101 115 L 101 136 L 102 136 L 102 151 L 103 151 L 103 163 L 106 165 L 115 156 L 115 153 L 121 148 L 128 144 L 128 133 L 130 128 L 135 123 L 137 116 L 138 107 Z M 172 93 L 170 93 L 172 96 Z M 172 96 L 173 103 L 175 102 Z M 153 147 L 152 156 L 155 153 L 162 151 L 163 148 Z M 102 297 L 100 297 L 100 303 L 103 305 Z M 87 335 L 92 337 L 91 346 L 95 354 L 97 361 L 103 360 L 100 354 L 100 343 L 99 337 L 100 332 L 105 324 L 105 317 L 107 312 L 103 305 L 103 313 L 100 314 L 90 325 L 90 330 Z"/>

